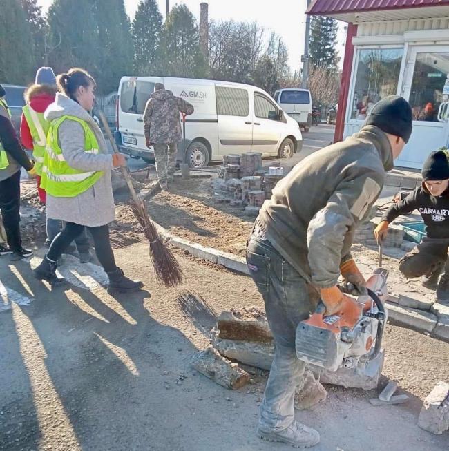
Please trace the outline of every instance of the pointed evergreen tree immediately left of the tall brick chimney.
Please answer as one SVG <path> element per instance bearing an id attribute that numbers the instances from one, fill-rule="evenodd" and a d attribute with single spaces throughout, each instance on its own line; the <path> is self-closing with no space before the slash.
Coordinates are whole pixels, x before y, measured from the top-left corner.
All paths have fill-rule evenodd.
<path id="1" fill-rule="evenodd" d="M 204 78 L 207 65 L 200 51 L 198 25 L 185 5 L 171 9 L 162 38 L 162 71 L 173 77 Z"/>

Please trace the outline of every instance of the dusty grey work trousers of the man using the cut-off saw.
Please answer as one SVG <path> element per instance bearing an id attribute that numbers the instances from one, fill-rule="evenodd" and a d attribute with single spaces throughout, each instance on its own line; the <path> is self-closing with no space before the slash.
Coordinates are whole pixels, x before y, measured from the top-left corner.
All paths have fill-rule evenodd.
<path id="1" fill-rule="evenodd" d="M 266 432 L 279 432 L 294 421 L 295 389 L 305 370 L 296 356 L 296 326 L 309 318 L 318 294 L 268 240 L 254 234 L 247 246 L 247 264 L 265 302 L 275 345 L 259 425 Z"/>

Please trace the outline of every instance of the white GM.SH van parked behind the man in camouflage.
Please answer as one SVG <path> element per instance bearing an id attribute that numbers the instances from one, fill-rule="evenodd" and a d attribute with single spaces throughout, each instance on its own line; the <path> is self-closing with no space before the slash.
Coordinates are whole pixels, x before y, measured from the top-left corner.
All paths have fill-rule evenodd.
<path id="1" fill-rule="evenodd" d="M 264 90 L 226 81 L 171 77 L 122 77 L 117 99 L 116 140 L 122 152 L 153 160 L 146 148 L 143 113 L 155 83 L 195 106 L 187 116 L 186 148 L 177 160 L 200 169 L 228 153 L 260 152 L 292 157 L 303 148 L 296 121 L 285 115 Z"/>

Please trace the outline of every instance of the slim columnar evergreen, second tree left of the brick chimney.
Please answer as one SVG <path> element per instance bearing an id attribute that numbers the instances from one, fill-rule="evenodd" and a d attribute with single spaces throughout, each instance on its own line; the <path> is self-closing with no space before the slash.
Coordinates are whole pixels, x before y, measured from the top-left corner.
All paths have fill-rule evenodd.
<path id="1" fill-rule="evenodd" d="M 132 35 L 133 68 L 138 75 L 156 75 L 161 70 L 162 15 L 156 0 L 142 0 L 135 13 Z"/>

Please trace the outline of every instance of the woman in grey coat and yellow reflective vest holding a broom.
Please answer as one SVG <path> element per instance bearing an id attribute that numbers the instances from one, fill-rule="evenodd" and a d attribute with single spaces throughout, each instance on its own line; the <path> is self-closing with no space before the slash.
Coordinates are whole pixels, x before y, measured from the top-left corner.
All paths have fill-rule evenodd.
<path id="1" fill-rule="evenodd" d="M 47 216 L 66 222 L 35 269 L 52 285 L 64 282 L 55 270 L 57 259 L 84 227 L 93 236 L 95 253 L 109 278 L 108 292 L 138 291 L 142 282 L 124 276 L 115 265 L 108 224 L 115 219 L 111 169 L 125 166 L 124 155 L 108 153 L 99 126 L 88 113 L 95 101 L 95 80 L 72 68 L 57 77 L 59 93 L 44 113 L 50 121 L 41 187 L 46 191 Z"/>

